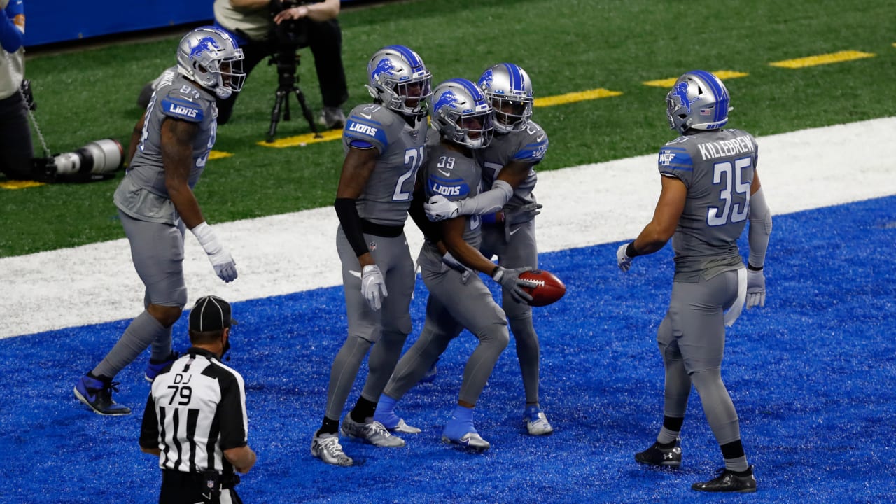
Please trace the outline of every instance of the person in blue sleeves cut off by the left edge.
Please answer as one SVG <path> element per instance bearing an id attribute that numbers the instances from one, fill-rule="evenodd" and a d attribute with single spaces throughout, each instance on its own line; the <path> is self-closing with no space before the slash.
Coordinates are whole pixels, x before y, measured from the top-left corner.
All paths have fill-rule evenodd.
<path id="1" fill-rule="evenodd" d="M 20 92 L 25 75 L 23 0 L 0 0 L 0 171 L 6 178 L 31 178 L 34 146 L 29 104 Z"/>

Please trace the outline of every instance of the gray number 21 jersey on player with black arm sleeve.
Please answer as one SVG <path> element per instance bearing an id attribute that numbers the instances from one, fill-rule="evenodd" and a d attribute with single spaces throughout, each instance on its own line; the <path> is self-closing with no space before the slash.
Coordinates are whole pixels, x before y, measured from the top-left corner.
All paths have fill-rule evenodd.
<path id="1" fill-rule="evenodd" d="M 346 153 L 352 145 L 375 148 L 379 153 L 374 172 L 358 197 L 362 219 L 401 226 L 408 218 L 417 171 L 423 164 L 426 120 L 408 125 L 401 114 L 381 105 L 358 105 L 351 110 L 342 130 Z"/>

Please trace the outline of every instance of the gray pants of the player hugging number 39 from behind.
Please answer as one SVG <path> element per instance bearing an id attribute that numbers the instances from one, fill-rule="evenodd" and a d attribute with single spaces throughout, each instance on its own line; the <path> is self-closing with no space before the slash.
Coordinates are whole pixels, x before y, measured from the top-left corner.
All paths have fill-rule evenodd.
<path id="1" fill-rule="evenodd" d="M 498 264 L 505 268 L 538 268 L 535 221 L 513 225 L 509 230 L 504 230 L 504 224 L 485 225 L 482 227 L 482 246 L 479 248 L 483 256 L 498 256 Z M 510 292 L 504 290 L 501 294 L 501 306 L 516 342 L 526 404 L 538 404 L 538 362 L 541 347 L 535 326 L 532 325 L 532 307 L 516 302 Z"/>

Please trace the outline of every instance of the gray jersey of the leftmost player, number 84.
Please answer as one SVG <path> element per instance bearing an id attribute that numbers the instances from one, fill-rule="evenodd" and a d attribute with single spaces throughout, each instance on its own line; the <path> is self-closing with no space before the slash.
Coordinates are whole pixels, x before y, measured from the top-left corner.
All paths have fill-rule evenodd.
<path id="1" fill-rule="evenodd" d="M 193 166 L 187 180 L 190 188 L 196 185 L 209 159 L 218 128 L 218 108 L 214 97 L 168 68 L 159 78 L 156 91 L 146 108 L 146 120 L 140 144 L 125 178 L 116 188 L 114 201 L 122 212 L 134 219 L 150 222 L 175 223 L 179 216 L 165 187 L 165 168 L 162 162 L 161 130 L 166 118 L 199 124 L 199 134 L 193 142 Z"/>

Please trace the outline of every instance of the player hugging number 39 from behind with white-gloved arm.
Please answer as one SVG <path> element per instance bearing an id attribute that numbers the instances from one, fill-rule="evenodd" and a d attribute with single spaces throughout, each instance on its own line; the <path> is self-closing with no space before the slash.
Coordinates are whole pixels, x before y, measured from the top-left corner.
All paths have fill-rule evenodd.
<path id="1" fill-rule="evenodd" d="M 426 215 L 439 221 L 458 214 L 482 215 L 482 253 L 498 257 L 507 268 L 538 267 L 535 215 L 541 205 L 532 191 L 538 182 L 535 165 L 547 152 L 547 134 L 532 117 L 533 90 L 529 74 L 519 65 L 491 66 L 479 77 L 478 85 L 495 108 L 495 137 L 477 152 L 482 163 L 484 187 L 481 195 L 452 202 L 436 195 L 426 202 Z M 532 325 L 532 308 L 502 294 L 502 305 L 510 322 L 516 353 L 520 360 L 522 386 L 526 395 L 522 421 L 533 436 L 554 431 L 538 398 L 540 346 Z"/>

